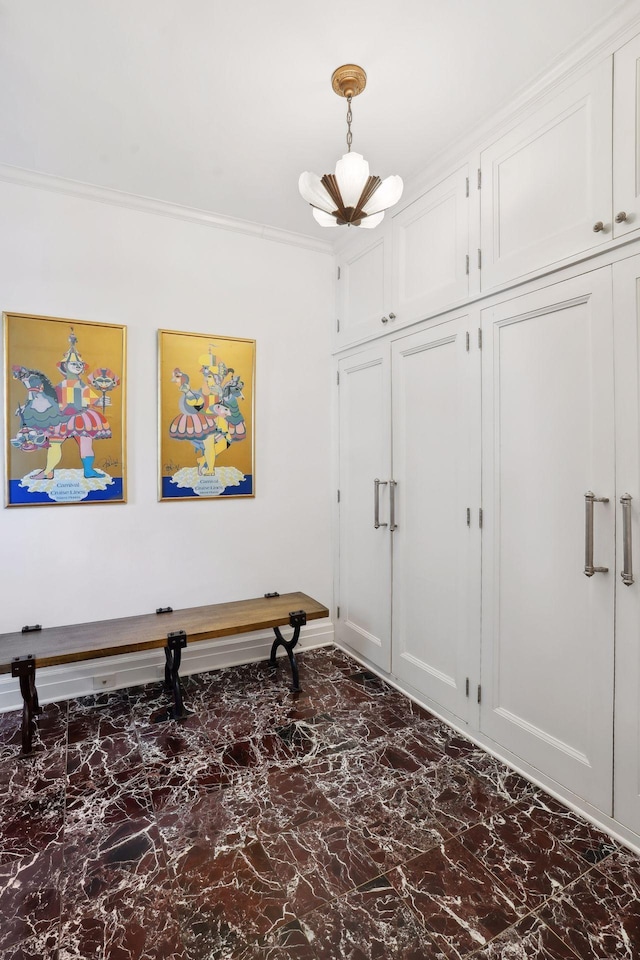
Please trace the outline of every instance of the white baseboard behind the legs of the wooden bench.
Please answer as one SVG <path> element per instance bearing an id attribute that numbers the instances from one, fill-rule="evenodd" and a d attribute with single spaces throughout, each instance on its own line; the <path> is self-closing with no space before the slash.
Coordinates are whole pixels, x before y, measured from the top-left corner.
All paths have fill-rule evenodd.
<path id="1" fill-rule="evenodd" d="M 288 631 L 285 631 L 285 639 L 288 639 Z M 238 663 L 267 660 L 273 641 L 273 631 L 260 630 L 187 645 L 182 651 L 180 675 L 184 677 L 191 673 L 232 667 Z M 296 651 L 324 647 L 333 642 L 333 623 L 330 620 L 312 622 L 300 631 Z M 282 653 L 280 647 L 278 654 Z M 52 703 L 56 700 L 82 697 L 97 690 L 118 690 L 142 683 L 153 683 L 164 678 L 164 665 L 164 651 L 158 649 L 99 660 L 83 660 L 61 667 L 43 667 L 36 670 L 38 699 L 42 704 Z M 0 677 L 0 713 L 21 708 L 22 697 L 18 680 L 6 675 Z"/>

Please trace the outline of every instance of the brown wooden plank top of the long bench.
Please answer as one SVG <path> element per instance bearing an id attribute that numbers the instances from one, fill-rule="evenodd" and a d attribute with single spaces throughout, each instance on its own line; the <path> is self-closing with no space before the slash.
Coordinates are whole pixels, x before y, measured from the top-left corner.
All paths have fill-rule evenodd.
<path id="1" fill-rule="evenodd" d="M 283 593 L 279 597 L 213 603 L 171 613 L 46 627 L 32 633 L 3 633 L 0 634 L 0 674 L 11 673 L 12 659 L 27 654 L 36 658 L 38 667 L 54 667 L 164 647 L 167 634 L 178 630 L 186 633 L 187 643 L 193 643 L 284 626 L 295 610 L 304 610 L 307 620 L 329 616 L 323 604 L 306 594 Z"/>

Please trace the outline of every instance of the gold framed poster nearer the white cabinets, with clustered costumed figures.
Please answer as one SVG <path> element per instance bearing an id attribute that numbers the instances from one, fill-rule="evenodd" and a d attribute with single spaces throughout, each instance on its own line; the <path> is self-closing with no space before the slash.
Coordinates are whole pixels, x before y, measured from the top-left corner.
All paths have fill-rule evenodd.
<path id="1" fill-rule="evenodd" d="M 255 340 L 158 331 L 160 500 L 253 497 Z"/>

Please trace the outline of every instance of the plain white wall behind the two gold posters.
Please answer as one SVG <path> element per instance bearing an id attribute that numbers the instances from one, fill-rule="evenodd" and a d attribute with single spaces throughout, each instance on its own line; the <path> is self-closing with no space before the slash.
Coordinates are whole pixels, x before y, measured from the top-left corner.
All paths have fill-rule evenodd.
<path id="1" fill-rule="evenodd" d="M 122 323 L 128 338 L 128 502 L 0 510 L 0 633 L 272 590 L 331 603 L 331 264 L 0 183 L 0 308 Z M 159 327 L 257 341 L 255 499 L 157 501 Z M 4 473 L 4 423 L 0 436 Z"/>

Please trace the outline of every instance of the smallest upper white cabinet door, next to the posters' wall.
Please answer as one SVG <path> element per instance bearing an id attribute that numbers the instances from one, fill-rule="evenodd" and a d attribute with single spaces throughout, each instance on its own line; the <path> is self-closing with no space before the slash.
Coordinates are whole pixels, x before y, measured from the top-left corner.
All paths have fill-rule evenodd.
<path id="1" fill-rule="evenodd" d="M 386 223 L 362 230 L 338 256 L 336 346 L 376 336 L 389 324 L 389 262 Z"/>

